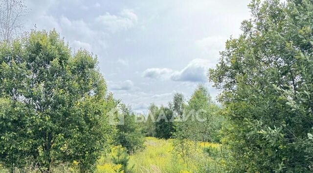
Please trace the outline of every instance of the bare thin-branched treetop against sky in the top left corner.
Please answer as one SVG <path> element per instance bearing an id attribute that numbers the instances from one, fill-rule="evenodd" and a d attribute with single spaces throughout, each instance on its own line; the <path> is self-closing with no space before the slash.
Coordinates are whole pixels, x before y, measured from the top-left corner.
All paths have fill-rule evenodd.
<path id="1" fill-rule="evenodd" d="M 24 0 L 0 0 L 0 40 L 10 42 L 22 30 L 27 14 Z"/>

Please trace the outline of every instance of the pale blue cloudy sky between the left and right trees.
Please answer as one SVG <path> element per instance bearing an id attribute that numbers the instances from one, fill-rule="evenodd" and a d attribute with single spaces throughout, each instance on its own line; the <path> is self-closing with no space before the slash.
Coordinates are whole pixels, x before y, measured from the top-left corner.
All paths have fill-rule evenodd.
<path id="1" fill-rule="evenodd" d="M 108 90 L 144 113 L 188 99 L 208 82 L 225 41 L 241 33 L 249 0 L 26 0 L 25 29 L 56 29 L 73 51 L 97 55 Z"/>

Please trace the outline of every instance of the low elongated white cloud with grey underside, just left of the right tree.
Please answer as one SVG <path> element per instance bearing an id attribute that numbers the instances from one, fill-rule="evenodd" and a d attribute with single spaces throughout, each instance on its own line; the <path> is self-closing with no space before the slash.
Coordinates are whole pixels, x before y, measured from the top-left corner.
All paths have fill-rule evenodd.
<path id="1" fill-rule="evenodd" d="M 173 81 L 205 82 L 208 69 L 214 65 L 215 63 L 211 63 L 209 60 L 197 58 L 190 61 L 180 71 L 167 68 L 150 68 L 143 72 L 143 77 L 171 79 Z"/>

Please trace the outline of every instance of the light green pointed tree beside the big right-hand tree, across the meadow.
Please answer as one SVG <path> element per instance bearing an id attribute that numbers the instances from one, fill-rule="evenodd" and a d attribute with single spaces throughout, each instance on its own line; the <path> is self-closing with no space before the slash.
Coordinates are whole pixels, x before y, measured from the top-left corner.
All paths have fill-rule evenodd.
<path id="1" fill-rule="evenodd" d="M 175 123 L 175 137 L 193 141 L 212 141 L 222 118 L 217 106 L 203 84 L 198 85 L 188 104 L 184 106 L 181 121 Z"/>

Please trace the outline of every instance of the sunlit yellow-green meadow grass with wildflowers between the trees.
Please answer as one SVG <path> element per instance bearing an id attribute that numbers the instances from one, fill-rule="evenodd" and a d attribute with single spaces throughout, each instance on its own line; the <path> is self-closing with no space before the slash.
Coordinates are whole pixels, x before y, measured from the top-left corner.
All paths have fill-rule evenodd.
<path id="1" fill-rule="evenodd" d="M 210 162 L 210 157 L 203 153 L 204 147 L 216 148 L 219 144 L 207 142 L 197 143 L 191 157 L 183 161 L 180 157 L 173 157 L 173 139 L 157 139 L 146 137 L 146 148 L 130 156 L 129 167 L 134 173 L 194 173 L 201 172 L 199 167 Z M 119 165 L 114 165 L 109 158 L 101 158 L 97 166 L 98 173 L 118 172 Z"/>

